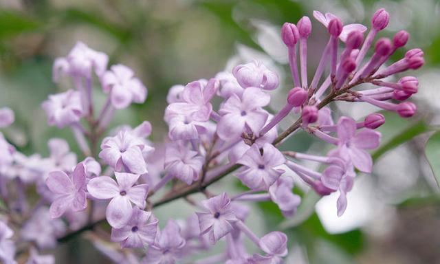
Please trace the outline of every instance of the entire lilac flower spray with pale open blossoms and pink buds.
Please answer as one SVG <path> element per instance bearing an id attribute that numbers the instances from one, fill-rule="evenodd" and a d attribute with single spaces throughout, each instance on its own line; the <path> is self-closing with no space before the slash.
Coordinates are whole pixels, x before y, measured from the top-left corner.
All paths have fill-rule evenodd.
<path id="1" fill-rule="evenodd" d="M 28 263 L 54 263 L 53 256 L 40 251 L 94 232 L 98 224 L 107 222 L 111 234 L 100 239 L 141 249 L 128 250 L 124 263 L 189 261 L 223 241 L 224 252 L 195 263 L 283 263 L 288 237 L 279 231 L 257 236 L 246 225 L 250 220 L 245 202 L 272 201 L 284 217 L 294 216 L 301 198 L 292 191 L 293 172 L 321 196 L 338 192 L 335 212 L 342 215 L 357 173 L 371 173 L 369 150 L 380 146 L 381 135 L 375 129 L 385 118 L 381 113 L 358 121 L 335 116 L 329 104 L 372 104 L 409 118 L 417 110 L 407 101 L 417 93 L 417 78 L 404 76 L 394 83 L 388 77 L 423 65 L 419 49 L 387 64 L 406 45 L 409 34 L 400 31 L 393 39 L 375 41 L 388 24 L 384 9 L 373 15 L 368 33 L 364 25 L 344 25 L 333 14 L 315 11 L 314 17 L 327 28 L 329 41 L 312 78 L 307 76 L 309 17 L 281 28 L 293 87 L 281 111 L 270 113 L 267 107 L 269 91 L 280 83 L 278 75 L 251 61 L 236 65 L 231 73 L 173 86 L 164 114 L 169 126 L 164 142 L 148 140 L 148 121 L 135 128 L 109 130 L 115 110 L 146 100 L 147 89 L 133 70 L 124 65 L 108 67 L 106 54 L 80 42 L 65 58 L 56 59 L 54 81 L 67 78 L 75 89 L 50 95 L 41 106 L 49 125 L 72 130 L 84 159 L 78 163 L 67 142 L 59 138 L 48 143 L 50 157 L 27 157 L 0 133 L 1 261 L 17 263 L 16 252 L 25 252 Z M 94 79 L 107 94 L 98 113 L 91 91 Z M 360 87 L 364 83 L 375 87 Z M 214 103 L 213 98 L 221 102 Z M 287 115 L 298 119 L 279 131 L 278 124 Z M 13 121 L 10 109 L 0 109 L 0 128 Z M 322 155 L 278 150 L 300 129 L 333 148 Z M 316 162 L 322 170 L 307 168 L 300 160 Z M 246 190 L 214 193 L 210 186 L 224 177 L 236 177 Z M 40 196 L 36 202 L 27 195 L 32 187 Z M 206 198 L 190 197 L 196 192 Z M 193 206 L 191 217 L 186 221 L 155 217 L 155 208 L 176 199 Z M 159 223 L 166 225 L 160 229 Z M 245 238 L 255 244 L 252 252 L 245 248 Z M 113 261 L 122 261 L 112 254 L 116 250 L 96 241 L 95 245 Z"/>

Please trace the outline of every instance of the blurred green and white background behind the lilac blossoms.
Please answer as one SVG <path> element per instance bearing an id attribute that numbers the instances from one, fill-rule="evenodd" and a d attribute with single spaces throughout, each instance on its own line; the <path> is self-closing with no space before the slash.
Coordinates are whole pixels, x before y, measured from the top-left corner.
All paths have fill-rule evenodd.
<path id="1" fill-rule="evenodd" d="M 407 30 L 411 37 L 406 48 L 421 47 L 425 52 L 426 64 L 414 73 L 420 82 L 419 94 L 413 97 L 419 114 L 410 120 L 386 115 L 380 128 L 384 145 L 373 153 L 373 175 L 358 175 L 343 217 L 336 216 L 337 196 L 318 201 L 310 192 L 294 219 L 285 220 L 272 203 L 262 203 L 248 221 L 260 235 L 280 227 L 289 234 L 287 263 L 440 263 L 439 188 L 428 164 L 429 159 L 434 171 L 440 166 L 440 140 L 433 137 L 435 147 L 428 151 L 428 159 L 425 155 L 426 142 L 440 124 L 440 1 L 0 0 L 0 106 L 12 108 L 17 118 L 5 135 L 28 155 L 47 155 L 51 137 L 64 137 L 75 149 L 68 129 L 47 126 L 40 104 L 49 94 L 69 88 L 52 83 L 52 63 L 76 41 L 109 54 L 110 64 L 134 69 L 148 88 L 148 98 L 119 111 L 113 125 L 149 120 L 153 141 L 159 141 L 166 135 L 162 118 L 170 86 L 211 78 L 238 63 L 259 59 L 281 76 L 272 102 L 276 111 L 292 87 L 281 25 L 320 10 L 338 15 L 344 23 L 370 26 L 378 8 L 391 14 L 380 36 Z M 325 28 L 312 22 L 309 76 L 328 39 Z M 404 50 L 397 52 L 393 60 L 403 54 Z M 105 98 L 98 86 L 94 96 L 98 102 Z M 360 119 L 377 109 L 339 104 L 334 110 Z M 322 153 L 326 147 L 302 133 L 283 145 L 311 153 Z M 241 188 L 235 181 L 226 187 Z M 300 185 L 297 189 L 305 192 Z M 192 212 L 185 208 L 188 212 L 175 214 L 185 217 Z M 170 211 L 164 206 L 155 213 L 166 219 L 173 214 Z M 57 263 L 109 263 L 89 245 L 83 239 L 61 245 Z"/>

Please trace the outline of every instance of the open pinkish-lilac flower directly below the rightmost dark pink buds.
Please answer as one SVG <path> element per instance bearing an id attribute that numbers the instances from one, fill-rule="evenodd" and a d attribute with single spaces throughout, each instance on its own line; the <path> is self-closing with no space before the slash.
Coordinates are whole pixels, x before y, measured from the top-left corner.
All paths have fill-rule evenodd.
<path id="1" fill-rule="evenodd" d="M 340 118 L 337 132 L 342 155 L 348 155 L 353 165 L 362 172 L 371 173 L 373 160 L 365 150 L 379 146 L 380 133 L 372 129 L 363 129 L 356 133 L 355 120 L 347 117 Z"/>

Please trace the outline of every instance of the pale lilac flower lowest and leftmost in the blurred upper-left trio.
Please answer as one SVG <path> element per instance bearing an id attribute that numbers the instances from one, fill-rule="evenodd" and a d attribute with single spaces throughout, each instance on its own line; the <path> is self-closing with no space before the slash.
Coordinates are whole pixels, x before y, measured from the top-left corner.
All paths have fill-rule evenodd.
<path id="1" fill-rule="evenodd" d="M 49 100 L 41 104 L 47 114 L 48 123 L 62 129 L 64 126 L 76 123 L 83 116 L 83 104 L 79 91 L 66 91 L 52 94 Z"/>

